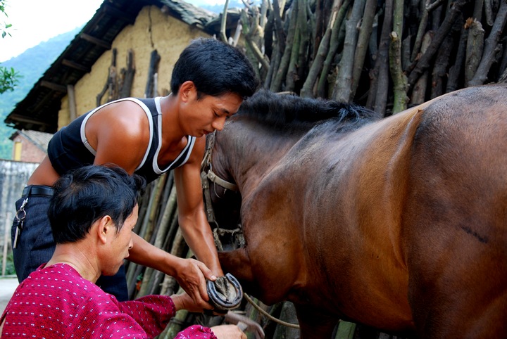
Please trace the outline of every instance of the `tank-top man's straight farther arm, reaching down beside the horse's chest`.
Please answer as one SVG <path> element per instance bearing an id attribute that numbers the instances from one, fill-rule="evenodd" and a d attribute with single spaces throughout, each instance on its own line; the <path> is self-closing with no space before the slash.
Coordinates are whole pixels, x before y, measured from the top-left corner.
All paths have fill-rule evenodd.
<path id="1" fill-rule="evenodd" d="M 205 147 L 206 139 L 197 139 L 187 163 L 175 169 L 178 221 L 184 239 L 197 259 L 204 262 L 215 276 L 223 276 L 202 198 L 200 171 Z"/>

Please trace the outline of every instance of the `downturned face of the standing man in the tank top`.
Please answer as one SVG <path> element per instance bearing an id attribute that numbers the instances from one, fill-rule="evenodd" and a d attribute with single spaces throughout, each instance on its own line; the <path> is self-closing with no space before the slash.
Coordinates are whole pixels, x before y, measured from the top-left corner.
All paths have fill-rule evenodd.
<path id="1" fill-rule="evenodd" d="M 196 96 L 189 101 L 184 112 L 184 127 L 192 136 L 204 136 L 215 130 L 222 130 L 227 117 L 232 116 L 239 109 L 243 99 L 235 93 L 221 96 Z"/>

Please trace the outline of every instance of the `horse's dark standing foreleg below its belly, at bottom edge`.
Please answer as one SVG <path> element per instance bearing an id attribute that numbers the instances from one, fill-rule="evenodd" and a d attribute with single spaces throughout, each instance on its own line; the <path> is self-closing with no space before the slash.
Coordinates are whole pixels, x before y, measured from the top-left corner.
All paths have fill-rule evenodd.
<path id="1" fill-rule="evenodd" d="M 323 313 L 306 305 L 294 305 L 299 320 L 301 339 L 330 339 L 334 327 L 338 324 L 331 314 Z"/>

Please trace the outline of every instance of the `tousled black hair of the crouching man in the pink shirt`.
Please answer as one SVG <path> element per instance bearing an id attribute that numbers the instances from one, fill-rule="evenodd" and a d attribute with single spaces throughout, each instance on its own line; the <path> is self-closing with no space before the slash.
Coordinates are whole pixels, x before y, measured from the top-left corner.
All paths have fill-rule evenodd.
<path id="1" fill-rule="evenodd" d="M 54 185 L 48 217 L 56 243 L 83 239 L 92 224 L 109 215 L 119 231 L 132 214 L 146 181 L 116 165 L 89 165 L 63 175 Z"/>

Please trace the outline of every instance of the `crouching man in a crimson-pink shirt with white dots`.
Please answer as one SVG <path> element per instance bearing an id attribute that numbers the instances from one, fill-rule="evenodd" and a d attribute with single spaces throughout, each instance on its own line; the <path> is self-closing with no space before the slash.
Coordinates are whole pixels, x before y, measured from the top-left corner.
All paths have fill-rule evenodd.
<path id="1" fill-rule="evenodd" d="M 55 185 L 51 260 L 15 290 L 0 318 L 4 338 L 154 338 L 179 309 L 202 312 L 186 293 L 118 302 L 96 286 L 132 248 L 144 179 L 120 167 L 87 166 Z M 176 338 L 243 338 L 235 325 L 190 326 Z"/>

